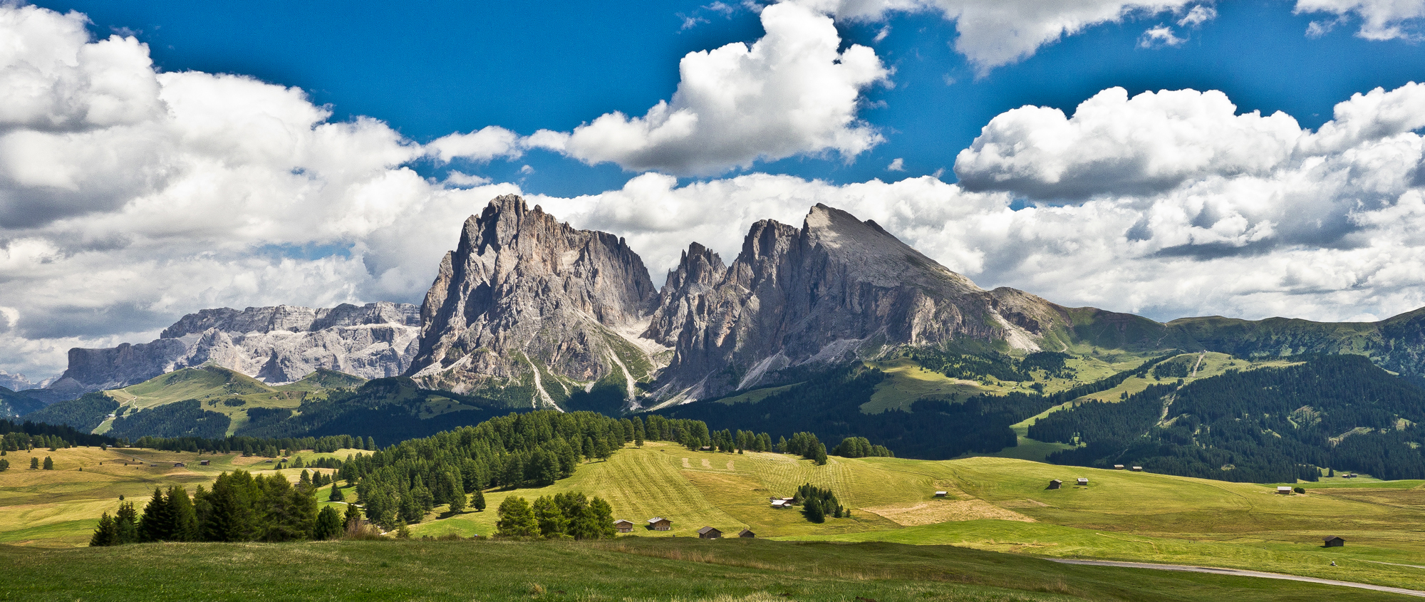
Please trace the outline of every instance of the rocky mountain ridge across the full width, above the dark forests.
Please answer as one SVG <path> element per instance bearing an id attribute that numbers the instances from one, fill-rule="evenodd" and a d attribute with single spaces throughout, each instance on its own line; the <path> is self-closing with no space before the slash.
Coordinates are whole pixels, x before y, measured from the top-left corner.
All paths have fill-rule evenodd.
<path id="1" fill-rule="evenodd" d="M 579 409 L 580 399 L 603 391 L 627 408 L 708 399 L 775 384 L 782 372 L 943 345 L 972 354 L 1352 352 L 1425 382 L 1425 310 L 1381 322 L 1208 317 L 1163 324 L 1066 308 L 1013 288 L 982 290 L 874 221 L 825 205 L 811 208 L 801 228 L 754 224 L 731 264 L 693 243 L 656 290 L 624 240 L 499 197 L 466 221 L 419 311 L 343 308 L 205 310 L 151 344 L 73 350 L 64 375 L 73 382 L 64 385 L 117 388 L 212 359 L 271 382 L 318 367 L 365 378 L 405 374 L 426 388 L 512 407 Z M 302 354 L 272 354 L 274 337 L 342 328 L 405 328 L 409 337 L 400 340 L 405 347 L 395 337 L 336 337 L 332 347 L 315 348 L 346 351 L 321 365 Z M 238 331 L 261 337 L 234 338 Z"/>

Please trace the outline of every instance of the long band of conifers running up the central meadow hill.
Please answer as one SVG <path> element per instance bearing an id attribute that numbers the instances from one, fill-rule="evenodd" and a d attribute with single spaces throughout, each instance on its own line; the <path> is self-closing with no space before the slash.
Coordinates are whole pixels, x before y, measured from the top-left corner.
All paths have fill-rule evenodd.
<path id="1" fill-rule="evenodd" d="M 573 475 L 580 462 L 607 459 L 624 444 L 644 439 L 694 449 L 711 444 L 703 422 L 544 409 L 403 441 L 348 459 L 338 476 L 356 484 L 373 524 L 393 528 L 400 521 L 419 522 L 443 504 L 453 512 L 467 505 L 484 509 L 482 489 L 551 485 Z"/>

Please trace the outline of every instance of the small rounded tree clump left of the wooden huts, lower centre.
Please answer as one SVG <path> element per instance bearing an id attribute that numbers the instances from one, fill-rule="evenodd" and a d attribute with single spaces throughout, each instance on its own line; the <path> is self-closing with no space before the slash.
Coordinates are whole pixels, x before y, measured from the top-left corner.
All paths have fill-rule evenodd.
<path id="1" fill-rule="evenodd" d="M 533 505 L 512 495 L 500 502 L 496 515 L 497 536 L 606 539 L 616 532 L 608 502 L 580 492 L 542 495 Z"/>

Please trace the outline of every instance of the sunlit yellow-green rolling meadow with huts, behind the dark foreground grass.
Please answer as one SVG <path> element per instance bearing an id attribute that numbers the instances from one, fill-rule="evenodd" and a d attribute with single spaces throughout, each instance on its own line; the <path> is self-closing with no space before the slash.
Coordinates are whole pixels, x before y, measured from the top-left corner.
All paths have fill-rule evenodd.
<path id="1" fill-rule="evenodd" d="M 331 455 L 345 458 L 348 452 Z M 28 454 L 21 452 L 7 456 L 20 468 L 0 474 L 0 544 L 84 545 L 98 514 L 117 508 L 120 494 L 141 505 L 155 485 L 192 488 L 225 469 L 272 466 L 259 458 L 219 455 L 204 456 L 212 465 L 200 468 L 192 454 L 134 449 L 36 454 L 54 456 L 57 469 L 24 469 Z M 144 464 L 134 464 L 134 458 Z M 125 459 L 130 466 L 123 465 Z M 172 462 L 188 466 L 174 468 Z M 284 471 L 292 479 L 298 472 Z M 1089 478 L 1089 485 L 1073 485 L 1079 476 Z M 1050 479 L 1066 486 L 1046 489 Z M 818 525 L 795 509 L 770 506 L 770 496 L 791 495 L 805 482 L 832 489 L 852 516 Z M 1274 484 L 1010 458 L 932 462 L 832 456 L 817 466 L 781 454 L 693 452 L 648 442 L 626 447 L 608 461 L 586 462 L 574 476 L 547 488 L 489 491 L 483 512 L 436 508 L 412 525 L 412 534 L 490 535 L 493 509 L 509 495 L 533 499 L 581 491 L 607 499 L 616 518 L 638 525 L 653 516 L 673 519 L 671 532 L 637 529 L 638 541 L 688 539 L 707 525 L 727 534 L 751 528 L 760 538 L 1211 565 L 1425 589 L 1425 569 L 1418 568 L 1425 566 L 1425 482 L 1330 478 L 1304 486 L 1305 495 L 1277 495 Z M 935 498 L 935 491 L 949 495 Z M 345 492 L 353 498 L 352 489 Z M 319 499 L 326 499 L 326 488 Z M 1345 538 L 1347 546 L 1321 548 L 1328 535 Z M 1330 566 L 1332 561 L 1338 566 Z"/>

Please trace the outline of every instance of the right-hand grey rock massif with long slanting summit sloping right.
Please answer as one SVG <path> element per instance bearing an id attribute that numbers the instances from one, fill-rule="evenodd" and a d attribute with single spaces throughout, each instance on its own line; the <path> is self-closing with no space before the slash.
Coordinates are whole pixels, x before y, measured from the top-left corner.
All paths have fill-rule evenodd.
<path id="1" fill-rule="evenodd" d="M 1037 351 L 1053 322 L 1047 301 L 985 291 L 876 223 L 818 204 L 801 228 L 754 224 L 732 265 L 688 248 L 646 334 L 674 347 L 657 397 L 678 402 L 896 345 L 980 341 Z"/>

